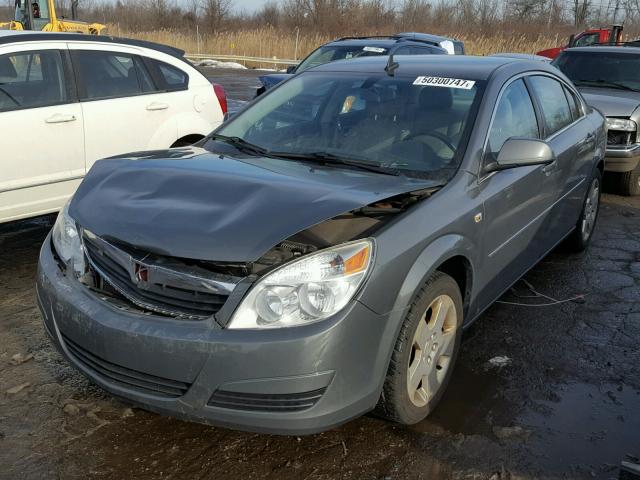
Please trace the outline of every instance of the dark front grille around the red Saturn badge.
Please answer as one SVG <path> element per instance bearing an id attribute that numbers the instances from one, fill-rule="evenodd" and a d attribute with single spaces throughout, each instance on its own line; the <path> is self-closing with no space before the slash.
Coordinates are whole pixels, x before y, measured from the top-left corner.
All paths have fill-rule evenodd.
<path id="1" fill-rule="evenodd" d="M 95 273 L 140 308 L 178 318 L 205 319 L 217 313 L 228 298 L 228 291 L 212 292 L 215 286 L 206 285 L 215 282 L 205 276 L 172 270 L 150 260 L 141 263 L 93 235 L 83 235 L 83 244 Z M 144 268 L 148 278 L 134 281 L 135 268 Z"/>

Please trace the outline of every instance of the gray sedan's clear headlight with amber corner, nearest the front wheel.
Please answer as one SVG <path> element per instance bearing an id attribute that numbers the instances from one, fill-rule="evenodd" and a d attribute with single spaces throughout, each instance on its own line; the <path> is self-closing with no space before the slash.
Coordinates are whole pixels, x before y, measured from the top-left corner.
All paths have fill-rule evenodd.
<path id="1" fill-rule="evenodd" d="M 233 315 L 231 329 L 282 328 L 323 320 L 353 298 L 372 265 L 362 240 L 306 255 L 267 274 Z"/>

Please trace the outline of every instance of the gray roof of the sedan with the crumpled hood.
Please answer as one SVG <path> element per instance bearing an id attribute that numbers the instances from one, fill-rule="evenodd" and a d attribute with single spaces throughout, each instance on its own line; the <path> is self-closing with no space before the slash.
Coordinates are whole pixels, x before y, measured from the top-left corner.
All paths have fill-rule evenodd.
<path id="1" fill-rule="evenodd" d="M 361 57 L 338 60 L 319 65 L 309 72 L 384 72 L 388 57 Z M 555 67 L 539 60 L 523 60 L 510 57 L 480 57 L 467 55 L 400 55 L 396 74 L 412 76 L 437 75 L 471 80 L 486 80 L 504 65 L 515 65 L 521 71 L 541 70 L 558 73 Z"/>

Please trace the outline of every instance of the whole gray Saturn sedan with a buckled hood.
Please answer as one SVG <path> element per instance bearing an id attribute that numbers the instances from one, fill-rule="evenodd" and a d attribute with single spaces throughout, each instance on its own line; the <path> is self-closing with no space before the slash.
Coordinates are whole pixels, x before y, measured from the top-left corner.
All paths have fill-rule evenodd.
<path id="1" fill-rule="evenodd" d="M 194 147 L 97 162 L 42 247 L 66 359 L 149 410 L 283 434 L 425 418 L 462 331 L 587 247 L 604 119 L 509 58 L 336 62 Z"/>

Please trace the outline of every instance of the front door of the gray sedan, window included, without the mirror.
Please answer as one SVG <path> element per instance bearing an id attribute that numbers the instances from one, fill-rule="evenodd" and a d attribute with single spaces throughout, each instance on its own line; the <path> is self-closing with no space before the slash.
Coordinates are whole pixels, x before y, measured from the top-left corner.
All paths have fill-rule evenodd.
<path id="1" fill-rule="evenodd" d="M 522 78 L 503 90 L 491 124 L 485 164 L 495 161 L 506 140 L 540 138 L 542 128 Z M 549 206 L 545 165 L 523 166 L 481 175 L 477 194 L 484 204 L 479 269 L 492 279 L 478 296 L 478 310 L 495 300 L 533 265 L 545 248 Z M 476 312 L 474 312 L 476 313 Z"/>

